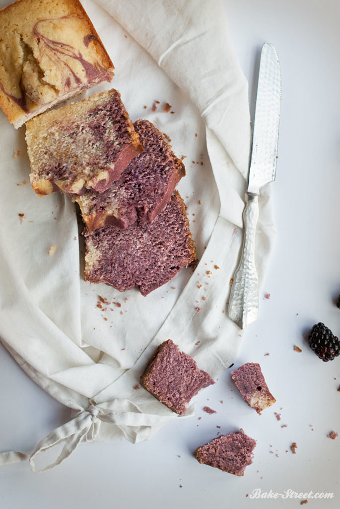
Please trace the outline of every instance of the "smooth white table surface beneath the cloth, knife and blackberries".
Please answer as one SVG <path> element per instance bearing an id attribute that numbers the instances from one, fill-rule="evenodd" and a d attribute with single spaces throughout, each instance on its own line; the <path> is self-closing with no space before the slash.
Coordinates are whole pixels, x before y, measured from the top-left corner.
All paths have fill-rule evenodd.
<path id="1" fill-rule="evenodd" d="M 228 370 L 199 395 L 195 417 L 168 423 L 148 442 L 81 444 L 44 474 L 33 473 L 26 462 L 1 468 L 2 509 L 298 507 L 301 499 L 289 498 L 287 490 L 333 493 L 326 500 L 308 498 L 311 509 L 340 506 L 340 436 L 327 438 L 331 430 L 340 435 L 340 359 L 324 363 L 306 342 L 319 321 L 340 333 L 334 303 L 340 294 L 340 3 L 224 4 L 226 26 L 249 79 L 251 110 L 263 42 L 276 46 L 282 67 L 279 161 L 272 184 L 277 237 L 259 318 L 249 326 L 235 362 L 236 367 L 259 362 L 276 403 L 257 415 L 241 399 Z M 70 417 L 1 344 L 0 402 L 0 450 L 33 450 Z M 203 412 L 205 405 L 217 413 Z M 197 463 L 197 446 L 219 431 L 240 427 L 257 440 L 244 477 Z M 298 446 L 295 455 L 292 442 Z M 251 498 L 256 489 L 286 498 Z"/>

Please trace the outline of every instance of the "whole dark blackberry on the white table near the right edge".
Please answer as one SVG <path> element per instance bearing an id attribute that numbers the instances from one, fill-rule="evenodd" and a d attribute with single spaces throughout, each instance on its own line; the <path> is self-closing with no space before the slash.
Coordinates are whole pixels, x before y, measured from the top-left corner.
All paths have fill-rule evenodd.
<path id="1" fill-rule="evenodd" d="M 313 325 L 308 334 L 308 343 L 319 359 L 324 362 L 340 355 L 340 342 L 323 323 Z"/>

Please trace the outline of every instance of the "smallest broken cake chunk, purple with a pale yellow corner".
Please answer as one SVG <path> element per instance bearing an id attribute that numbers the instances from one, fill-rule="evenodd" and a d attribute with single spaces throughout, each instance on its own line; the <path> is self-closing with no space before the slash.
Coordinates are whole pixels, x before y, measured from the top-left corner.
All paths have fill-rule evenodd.
<path id="1" fill-rule="evenodd" d="M 231 372 L 231 376 L 242 394 L 242 398 L 261 414 L 261 410 L 275 403 L 261 372 L 260 364 L 246 362 Z"/>

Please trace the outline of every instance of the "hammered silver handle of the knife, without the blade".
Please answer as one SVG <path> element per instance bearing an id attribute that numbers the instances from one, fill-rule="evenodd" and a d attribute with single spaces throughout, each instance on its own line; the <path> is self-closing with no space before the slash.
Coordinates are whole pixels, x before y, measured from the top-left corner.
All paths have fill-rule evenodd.
<path id="1" fill-rule="evenodd" d="M 255 236 L 259 218 L 258 194 L 246 193 L 243 210 L 243 246 L 240 264 L 235 272 L 229 299 L 229 318 L 244 329 L 257 319 L 259 279 L 255 266 Z"/>

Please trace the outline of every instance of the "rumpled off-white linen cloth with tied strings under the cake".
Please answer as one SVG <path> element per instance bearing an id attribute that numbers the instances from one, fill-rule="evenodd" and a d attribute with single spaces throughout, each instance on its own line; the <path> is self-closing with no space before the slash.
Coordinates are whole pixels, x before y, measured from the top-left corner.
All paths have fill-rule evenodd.
<path id="1" fill-rule="evenodd" d="M 0 7 L 8 3 L 0 0 Z M 40 471 L 36 456 L 55 444 L 65 442 L 46 468 L 67 458 L 80 442 L 138 442 L 164 422 L 182 418 L 136 388 L 163 341 L 171 338 L 216 379 L 236 359 L 243 335 L 227 317 L 227 302 L 242 240 L 251 129 L 248 84 L 222 4 L 82 4 L 115 65 L 112 87 L 120 91 L 131 119 L 153 122 L 171 138 L 175 154 L 185 157 L 187 176 L 178 190 L 188 206 L 200 262 L 194 272 L 182 270 L 147 297 L 135 289 L 121 294 L 85 282 L 74 205 L 62 194 L 39 198 L 34 193 L 24 127 L 15 131 L 0 113 L 0 336 L 22 369 L 74 410 L 74 418 L 43 439 L 32 455 L 0 455 L 0 464 L 29 459 L 35 471 Z M 102 84 L 80 98 L 110 87 Z M 159 101 L 156 111 L 154 101 Z M 165 103 L 173 113 L 163 110 Z M 20 155 L 13 157 L 17 150 Z M 256 245 L 260 285 L 273 237 L 265 188 Z M 193 412 L 191 406 L 186 416 Z"/>

